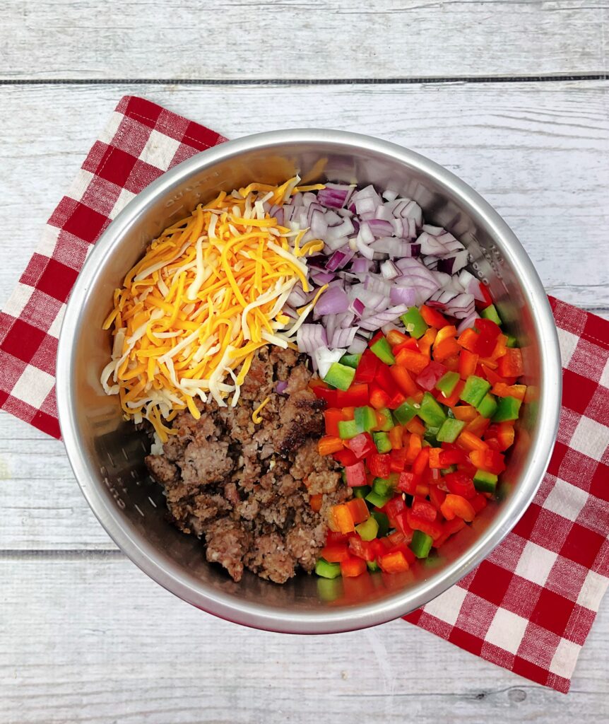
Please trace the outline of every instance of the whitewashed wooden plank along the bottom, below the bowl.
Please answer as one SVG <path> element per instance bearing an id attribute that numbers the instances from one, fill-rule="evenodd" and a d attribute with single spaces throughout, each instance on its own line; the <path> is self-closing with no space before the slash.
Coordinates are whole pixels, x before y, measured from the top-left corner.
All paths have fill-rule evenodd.
<path id="1" fill-rule="evenodd" d="M 119 557 L 17 555 L 0 580 L 7 723 L 607 720 L 606 607 L 563 696 L 401 620 L 331 637 L 234 626 Z"/>

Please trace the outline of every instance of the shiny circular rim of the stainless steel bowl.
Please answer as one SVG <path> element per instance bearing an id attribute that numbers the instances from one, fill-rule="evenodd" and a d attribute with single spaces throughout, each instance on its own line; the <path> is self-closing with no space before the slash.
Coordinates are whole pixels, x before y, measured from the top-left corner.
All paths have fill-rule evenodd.
<path id="1" fill-rule="evenodd" d="M 161 560 L 161 555 L 153 545 L 142 539 L 128 521 L 126 524 L 121 520 L 119 508 L 109 505 L 108 498 L 101 494 L 94 476 L 90 474 L 89 460 L 76 434 L 72 389 L 72 368 L 75 363 L 72 341 L 74 329 L 78 326 L 80 309 L 88 299 L 93 280 L 98 268 L 103 265 L 104 258 L 110 256 L 132 224 L 145 214 L 149 204 L 158 196 L 182 185 L 196 172 L 220 161 L 257 148 L 271 150 L 289 143 L 317 143 L 320 146 L 324 143 L 334 146 L 338 144 L 346 150 L 357 152 L 365 149 L 379 156 L 391 156 L 393 160 L 401 161 L 406 167 L 414 167 L 449 190 L 459 206 L 467 207 L 468 213 L 476 216 L 490 235 L 500 240 L 503 256 L 521 282 L 522 293 L 531 308 L 532 320 L 543 348 L 543 354 L 540 355 L 539 415 L 545 420 L 545 424 L 539 426 L 532 450 L 535 454 L 529 456 L 529 464 L 516 489 L 477 541 L 440 573 L 431 576 L 427 581 L 421 581 L 415 588 L 406 587 L 402 592 L 376 602 L 342 609 L 328 607 L 315 612 L 268 607 L 263 602 L 238 601 L 229 594 L 206 589 L 205 584 L 195 586 L 178 565 L 167 565 L 165 560 Z M 399 618 L 445 592 L 490 555 L 527 510 L 541 484 L 558 431 L 561 381 L 558 334 L 542 282 L 514 232 L 480 194 L 440 164 L 396 143 L 353 132 L 307 128 L 247 135 L 197 153 L 163 173 L 129 201 L 95 243 L 77 277 L 64 314 L 56 361 L 57 409 L 69 462 L 90 508 L 116 545 L 150 578 L 192 605 L 234 623 L 283 633 L 353 631 Z"/>

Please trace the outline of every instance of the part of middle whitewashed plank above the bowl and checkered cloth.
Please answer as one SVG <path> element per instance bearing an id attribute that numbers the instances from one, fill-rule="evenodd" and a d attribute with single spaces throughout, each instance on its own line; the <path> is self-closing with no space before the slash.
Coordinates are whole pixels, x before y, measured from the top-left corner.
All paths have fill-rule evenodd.
<path id="1" fill-rule="evenodd" d="M 0 303 L 46 220 L 124 93 L 144 95 L 229 138 L 284 127 L 379 135 L 458 174 L 504 216 L 548 292 L 609 310 L 609 85 L 69 85 L 4 88 Z M 26 213 L 27 211 L 27 213 Z"/>

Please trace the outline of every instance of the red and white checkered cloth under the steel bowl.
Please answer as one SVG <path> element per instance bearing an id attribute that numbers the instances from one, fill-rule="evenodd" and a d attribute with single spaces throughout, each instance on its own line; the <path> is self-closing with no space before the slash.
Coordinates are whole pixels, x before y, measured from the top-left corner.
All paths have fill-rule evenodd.
<path id="1" fill-rule="evenodd" d="M 122 99 L 0 313 L 4 410 L 59 437 L 57 337 L 88 251 L 135 194 L 224 140 L 150 101 Z M 609 584 L 609 322 L 550 303 L 563 357 L 563 407 L 548 473 L 493 554 L 406 620 L 566 692 Z"/>

